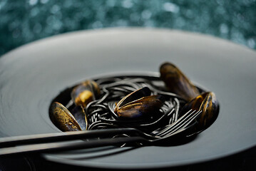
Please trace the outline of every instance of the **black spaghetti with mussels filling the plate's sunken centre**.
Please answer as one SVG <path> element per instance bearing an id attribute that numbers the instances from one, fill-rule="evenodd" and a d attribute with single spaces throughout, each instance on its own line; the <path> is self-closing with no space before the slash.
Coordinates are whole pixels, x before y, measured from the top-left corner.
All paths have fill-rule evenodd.
<path id="1" fill-rule="evenodd" d="M 195 86 L 170 62 L 160 65 L 159 77 L 83 81 L 63 90 L 49 108 L 63 132 L 135 128 L 151 138 L 178 135 L 179 142 L 210 127 L 218 113 L 215 93 Z"/>

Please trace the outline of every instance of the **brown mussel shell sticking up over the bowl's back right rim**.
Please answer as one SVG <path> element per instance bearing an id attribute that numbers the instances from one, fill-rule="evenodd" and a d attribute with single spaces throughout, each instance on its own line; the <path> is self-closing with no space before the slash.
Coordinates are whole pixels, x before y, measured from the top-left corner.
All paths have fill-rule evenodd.
<path id="1" fill-rule="evenodd" d="M 193 83 L 173 63 L 163 63 L 160 66 L 160 78 L 172 93 L 190 101 L 200 93 Z"/>

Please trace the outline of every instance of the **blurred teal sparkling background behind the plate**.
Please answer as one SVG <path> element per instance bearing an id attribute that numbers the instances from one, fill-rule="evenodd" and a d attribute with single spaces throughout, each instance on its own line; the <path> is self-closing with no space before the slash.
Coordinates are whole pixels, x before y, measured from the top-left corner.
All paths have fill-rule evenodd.
<path id="1" fill-rule="evenodd" d="M 206 33 L 256 49 L 256 0 L 0 0 L 0 56 L 40 38 L 109 27 Z"/>

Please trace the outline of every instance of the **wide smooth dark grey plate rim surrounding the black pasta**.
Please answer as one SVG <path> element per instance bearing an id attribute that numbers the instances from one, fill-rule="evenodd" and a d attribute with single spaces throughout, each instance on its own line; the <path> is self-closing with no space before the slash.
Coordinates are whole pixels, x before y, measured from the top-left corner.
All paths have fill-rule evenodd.
<path id="1" fill-rule="evenodd" d="M 61 90 L 102 75 L 158 76 L 165 61 L 215 92 L 220 101 L 217 120 L 195 140 L 173 147 L 106 147 L 44 157 L 104 168 L 170 167 L 225 157 L 256 145 L 255 51 L 210 36 L 142 28 L 68 33 L 2 56 L 1 137 L 57 132 L 48 106 Z"/>

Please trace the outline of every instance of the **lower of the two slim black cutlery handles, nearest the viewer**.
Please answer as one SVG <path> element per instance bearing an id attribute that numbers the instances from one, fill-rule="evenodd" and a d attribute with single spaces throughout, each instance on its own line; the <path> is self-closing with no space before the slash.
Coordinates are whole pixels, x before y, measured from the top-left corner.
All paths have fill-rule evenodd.
<path id="1" fill-rule="evenodd" d="M 108 145 L 122 145 L 128 142 L 143 142 L 145 138 L 126 137 L 126 138 L 106 138 L 102 140 L 71 141 L 71 142 L 51 142 L 36 145 L 20 145 L 16 147 L 1 148 L 0 157 L 11 155 L 34 154 L 39 152 L 58 152 L 63 150 L 78 150 L 91 147 L 103 147 Z"/>

